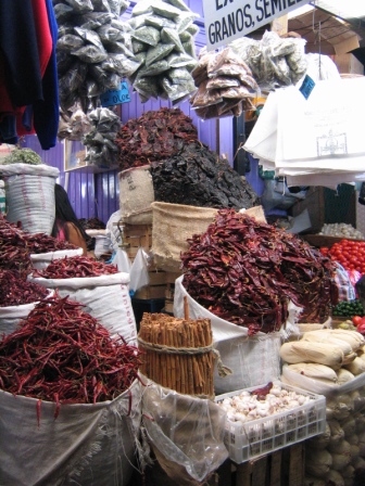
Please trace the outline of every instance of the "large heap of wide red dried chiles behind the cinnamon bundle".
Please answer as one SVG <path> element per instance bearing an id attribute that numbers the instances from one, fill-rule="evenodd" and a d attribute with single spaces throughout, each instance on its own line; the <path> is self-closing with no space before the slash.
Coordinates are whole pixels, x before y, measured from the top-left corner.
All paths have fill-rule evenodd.
<path id="1" fill-rule="evenodd" d="M 221 209 L 206 232 L 188 240 L 182 284 L 199 304 L 249 333 L 279 330 L 288 299 L 302 322 L 324 322 L 338 300 L 336 267 L 298 236 Z"/>

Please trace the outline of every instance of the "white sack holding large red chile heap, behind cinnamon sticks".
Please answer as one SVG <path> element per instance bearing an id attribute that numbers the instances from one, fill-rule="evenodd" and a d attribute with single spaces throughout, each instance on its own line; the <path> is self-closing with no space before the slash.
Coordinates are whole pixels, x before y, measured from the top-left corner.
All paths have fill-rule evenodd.
<path id="1" fill-rule="evenodd" d="M 232 374 L 224 378 L 214 370 L 215 393 L 234 392 L 278 379 L 282 334 L 257 333 L 249 336 L 247 328 L 218 318 L 190 297 L 182 279 L 184 276 L 175 281 L 174 316 L 184 317 L 184 297 L 187 297 L 190 319 L 211 320 L 214 347 L 219 351 L 223 364 L 232 370 Z"/>

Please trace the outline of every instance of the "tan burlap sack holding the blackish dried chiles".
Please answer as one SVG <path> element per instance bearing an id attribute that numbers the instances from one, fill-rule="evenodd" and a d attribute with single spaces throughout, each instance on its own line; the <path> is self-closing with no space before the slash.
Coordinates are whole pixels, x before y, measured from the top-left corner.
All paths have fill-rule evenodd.
<path id="1" fill-rule="evenodd" d="M 154 202 L 152 207 L 152 253 L 155 265 L 165 271 L 180 270 L 181 252 L 189 247 L 187 240 L 204 233 L 214 221 L 218 209 Z M 262 206 L 244 214 L 266 222 Z"/>

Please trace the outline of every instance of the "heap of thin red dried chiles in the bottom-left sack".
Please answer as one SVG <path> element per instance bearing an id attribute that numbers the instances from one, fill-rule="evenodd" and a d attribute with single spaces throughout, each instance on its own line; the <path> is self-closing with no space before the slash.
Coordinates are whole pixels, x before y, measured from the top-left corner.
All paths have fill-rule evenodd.
<path id="1" fill-rule="evenodd" d="M 55 295 L 41 300 L 0 342 L 0 387 L 58 404 L 112 400 L 137 376 L 141 351 L 112 338 L 81 305 Z M 39 410 L 38 410 L 39 411 Z"/>

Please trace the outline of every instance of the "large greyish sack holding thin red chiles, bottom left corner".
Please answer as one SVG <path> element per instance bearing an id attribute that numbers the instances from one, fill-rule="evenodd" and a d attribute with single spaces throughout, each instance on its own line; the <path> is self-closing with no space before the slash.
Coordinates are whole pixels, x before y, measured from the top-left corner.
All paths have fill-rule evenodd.
<path id="1" fill-rule="evenodd" d="M 0 391 L 1 486 L 126 486 L 140 427 L 135 381 L 113 401 L 62 405 Z M 130 413 L 129 413 L 130 412 Z M 128 414 L 129 413 L 129 414 Z"/>

